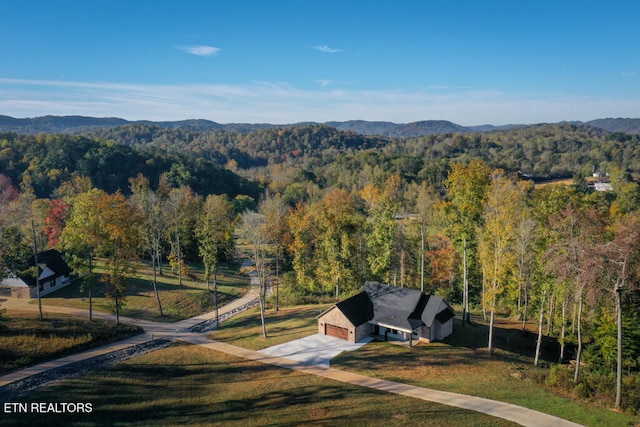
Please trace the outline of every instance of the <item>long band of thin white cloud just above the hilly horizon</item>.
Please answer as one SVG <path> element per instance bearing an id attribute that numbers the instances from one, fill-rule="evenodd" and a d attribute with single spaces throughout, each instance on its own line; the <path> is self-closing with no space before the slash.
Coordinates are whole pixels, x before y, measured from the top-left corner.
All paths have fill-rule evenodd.
<path id="1" fill-rule="evenodd" d="M 220 123 L 450 120 L 461 125 L 640 117 L 640 100 L 501 91 L 306 89 L 282 82 L 148 85 L 0 78 L 0 115 Z"/>

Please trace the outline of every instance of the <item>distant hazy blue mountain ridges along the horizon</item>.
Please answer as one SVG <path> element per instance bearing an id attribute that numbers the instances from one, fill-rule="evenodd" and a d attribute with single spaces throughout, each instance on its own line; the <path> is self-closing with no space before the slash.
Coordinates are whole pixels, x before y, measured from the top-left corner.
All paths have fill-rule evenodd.
<path id="1" fill-rule="evenodd" d="M 583 122 L 571 122 L 583 124 Z M 16 133 L 71 133 L 78 134 L 92 129 L 110 128 L 122 125 L 142 124 L 158 126 L 168 129 L 189 129 L 194 131 L 227 130 L 232 132 L 248 133 L 261 129 L 284 128 L 291 126 L 306 126 L 313 124 L 325 124 L 341 131 L 353 131 L 362 135 L 380 135 L 391 137 L 415 137 L 440 133 L 467 133 L 467 132 L 492 132 L 506 130 L 514 127 L 523 127 L 522 124 L 510 124 L 494 126 L 490 124 L 479 126 L 461 126 L 447 120 L 422 120 L 411 123 L 393 123 L 386 121 L 331 121 L 325 123 L 305 122 L 292 124 L 270 123 L 228 123 L 221 124 L 211 120 L 192 119 L 178 121 L 129 121 L 115 117 L 85 117 L 85 116 L 42 116 L 33 118 L 13 118 L 0 115 L 0 132 Z M 625 132 L 640 134 L 640 119 L 630 118 L 606 118 L 586 122 L 593 127 L 599 127 L 609 132 Z"/>

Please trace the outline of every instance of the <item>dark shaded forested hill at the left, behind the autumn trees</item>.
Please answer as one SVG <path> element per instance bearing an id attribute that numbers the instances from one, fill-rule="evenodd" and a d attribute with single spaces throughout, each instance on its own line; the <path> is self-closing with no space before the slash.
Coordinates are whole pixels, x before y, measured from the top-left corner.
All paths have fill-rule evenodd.
<path id="1" fill-rule="evenodd" d="M 87 177 L 97 188 L 129 191 L 129 179 L 141 173 L 157 183 L 166 174 L 175 186 L 207 194 L 245 194 L 258 199 L 260 186 L 206 159 L 154 146 L 132 147 L 83 136 L 0 134 L 0 173 L 16 185 L 28 181 L 39 198 L 73 177 Z"/>

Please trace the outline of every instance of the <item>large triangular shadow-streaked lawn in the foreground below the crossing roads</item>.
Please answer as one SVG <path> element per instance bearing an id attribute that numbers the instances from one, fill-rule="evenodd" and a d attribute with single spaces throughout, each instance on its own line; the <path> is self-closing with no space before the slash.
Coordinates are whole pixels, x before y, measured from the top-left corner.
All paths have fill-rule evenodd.
<path id="1" fill-rule="evenodd" d="M 476 412 L 177 345 L 22 397 L 89 414 L 3 414 L 22 425 L 512 426 Z"/>

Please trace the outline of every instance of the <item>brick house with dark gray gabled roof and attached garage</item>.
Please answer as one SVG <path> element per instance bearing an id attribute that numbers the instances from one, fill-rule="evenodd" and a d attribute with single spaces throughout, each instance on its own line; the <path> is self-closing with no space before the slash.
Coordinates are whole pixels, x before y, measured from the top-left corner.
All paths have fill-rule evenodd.
<path id="1" fill-rule="evenodd" d="M 318 332 L 356 343 L 367 336 L 385 340 L 438 341 L 453 333 L 455 312 L 436 295 L 366 282 L 359 294 L 318 316 Z"/>

